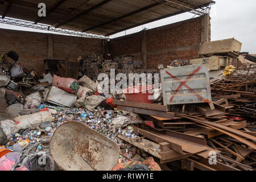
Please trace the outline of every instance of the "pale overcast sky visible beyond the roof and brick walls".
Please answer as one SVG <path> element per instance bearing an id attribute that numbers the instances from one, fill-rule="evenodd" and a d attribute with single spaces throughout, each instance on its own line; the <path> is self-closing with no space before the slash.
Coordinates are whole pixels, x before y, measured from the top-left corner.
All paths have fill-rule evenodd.
<path id="1" fill-rule="evenodd" d="M 211 40 L 235 38 L 242 43 L 241 52 L 256 54 L 256 1 L 215 0 L 215 2 L 216 4 L 212 5 L 210 10 Z M 110 38 L 133 34 L 134 32 L 141 31 L 144 28 L 155 28 L 195 17 L 195 14 L 183 13 L 119 32 L 118 34 L 110 36 Z M 0 28 L 48 32 L 2 23 L 0 23 Z M 54 34 L 55 32 L 51 33 Z"/>

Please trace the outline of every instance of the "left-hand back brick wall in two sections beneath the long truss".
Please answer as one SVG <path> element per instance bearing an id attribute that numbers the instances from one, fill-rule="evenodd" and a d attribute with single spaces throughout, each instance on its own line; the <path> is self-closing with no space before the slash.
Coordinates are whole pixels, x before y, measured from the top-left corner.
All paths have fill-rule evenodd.
<path id="1" fill-rule="evenodd" d="M 0 29 L 0 54 L 16 51 L 18 63 L 28 69 L 43 72 L 43 60 L 48 58 L 48 34 Z M 76 36 L 52 35 L 53 59 L 76 60 L 80 55 L 102 52 L 102 40 Z"/>

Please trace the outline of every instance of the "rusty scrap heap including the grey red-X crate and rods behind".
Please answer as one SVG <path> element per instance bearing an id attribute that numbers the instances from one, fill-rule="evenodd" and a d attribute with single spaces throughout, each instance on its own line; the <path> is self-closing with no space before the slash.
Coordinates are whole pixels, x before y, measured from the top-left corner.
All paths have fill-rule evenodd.
<path id="1" fill-rule="evenodd" d="M 211 93 L 205 65 L 162 68 L 160 74 L 163 104 L 113 101 L 117 109 L 143 120 L 132 126 L 139 138 L 119 137 L 171 169 L 255 170 L 256 132 L 254 123 L 246 121 L 254 117 L 255 76 L 234 82 L 233 75 L 212 84 Z"/>

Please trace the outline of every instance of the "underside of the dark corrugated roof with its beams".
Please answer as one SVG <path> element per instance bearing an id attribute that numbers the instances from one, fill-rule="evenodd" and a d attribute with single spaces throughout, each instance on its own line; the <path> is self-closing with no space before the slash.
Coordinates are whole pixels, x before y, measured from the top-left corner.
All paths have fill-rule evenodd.
<path id="1" fill-rule="evenodd" d="M 46 3 L 47 6 L 45 18 L 38 17 L 38 4 L 41 2 Z M 212 2 L 212 0 L 0 0 L 0 15 L 69 30 L 112 35 L 144 23 L 190 11 L 191 8 L 205 7 Z"/>

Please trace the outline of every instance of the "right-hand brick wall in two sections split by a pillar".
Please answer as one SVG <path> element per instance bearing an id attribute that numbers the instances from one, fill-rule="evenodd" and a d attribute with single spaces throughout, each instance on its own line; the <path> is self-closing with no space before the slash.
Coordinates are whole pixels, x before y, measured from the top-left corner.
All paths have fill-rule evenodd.
<path id="1" fill-rule="evenodd" d="M 146 30 L 147 68 L 164 67 L 175 59 L 195 59 L 199 57 L 202 19 L 184 20 L 166 26 Z M 210 28 L 210 26 L 209 26 Z M 142 55 L 142 32 L 110 40 L 109 53 L 114 55 Z"/>

